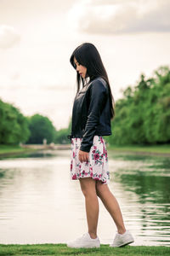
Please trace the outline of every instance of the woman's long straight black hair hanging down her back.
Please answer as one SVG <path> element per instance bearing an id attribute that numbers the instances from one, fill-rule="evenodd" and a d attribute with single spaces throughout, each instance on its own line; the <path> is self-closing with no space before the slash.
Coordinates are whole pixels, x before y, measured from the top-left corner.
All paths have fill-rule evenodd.
<path id="1" fill-rule="evenodd" d="M 115 116 L 115 101 L 111 93 L 111 86 L 105 67 L 99 55 L 98 49 L 91 43 L 83 43 L 79 45 L 71 54 L 71 65 L 77 69 L 74 62 L 74 57 L 77 59 L 78 63 L 87 68 L 87 75 L 89 77 L 89 82 L 96 78 L 105 79 L 106 84 L 108 84 L 110 105 L 111 105 L 111 119 Z M 87 76 L 86 76 L 87 77 Z M 87 83 L 87 79 L 83 79 L 81 75 L 77 72 L 77 92 L 80 90 L 80 84 L 82 82 L 82 87 Z"/>

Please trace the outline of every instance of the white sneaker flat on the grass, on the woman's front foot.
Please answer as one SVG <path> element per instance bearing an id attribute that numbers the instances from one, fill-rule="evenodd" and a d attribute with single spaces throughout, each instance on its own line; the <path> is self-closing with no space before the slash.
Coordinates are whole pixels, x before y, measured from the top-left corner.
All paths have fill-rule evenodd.
<path id="1" fill-rule="evenodd" d="M 75 248 L 100 247 L 100 241 L 98 236 L 95 239 L 93 239 L 90 237 L 89 233 L 85 233 L 81 237 L 78 237 L 75 241 L 67 242 L 67 247 L 75 247 Z"/>

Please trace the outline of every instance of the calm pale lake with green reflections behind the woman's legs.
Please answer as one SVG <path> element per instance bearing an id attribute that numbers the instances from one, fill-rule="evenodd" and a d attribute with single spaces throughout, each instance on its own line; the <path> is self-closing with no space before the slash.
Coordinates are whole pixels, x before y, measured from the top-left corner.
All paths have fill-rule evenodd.
<path id="1" fill-rule="evenodd" d="M 0 243 L 66 243 L 88 231 L 70 150 L 47 150 L 0 160 Z M 170 245 L 170 159 L 108 151 L 109 188 L 136 245 Z M 116 232 L 99 199 L 98 236 Z"/>

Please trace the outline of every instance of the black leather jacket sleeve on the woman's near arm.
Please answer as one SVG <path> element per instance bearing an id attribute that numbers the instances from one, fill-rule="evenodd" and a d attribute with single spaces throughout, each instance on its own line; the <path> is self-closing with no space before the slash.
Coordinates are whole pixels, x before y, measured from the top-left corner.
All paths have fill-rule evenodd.
<path id="1" fill-rule="evenodd" d="M 85 152 L 89 152 L 93 145 L 94 133 L 99 125 L 99 117 L 106 97 L 105 85 L 99 80 L 92 83 L 90 90 L 88 119 L 80 147 L 80 150 Z"/>

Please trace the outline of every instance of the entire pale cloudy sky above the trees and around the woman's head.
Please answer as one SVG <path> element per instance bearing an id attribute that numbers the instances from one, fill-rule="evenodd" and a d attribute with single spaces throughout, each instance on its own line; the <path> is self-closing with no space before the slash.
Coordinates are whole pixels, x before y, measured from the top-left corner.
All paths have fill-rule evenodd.
<path id="1" fill-rule="evenodd" d="M 170 0 L 0 0 L 0 98 L 67 127 L 75 96 L 72 51 L 93 43 L 115 100 L 170 67 Z"/>

